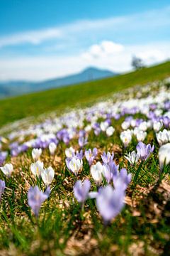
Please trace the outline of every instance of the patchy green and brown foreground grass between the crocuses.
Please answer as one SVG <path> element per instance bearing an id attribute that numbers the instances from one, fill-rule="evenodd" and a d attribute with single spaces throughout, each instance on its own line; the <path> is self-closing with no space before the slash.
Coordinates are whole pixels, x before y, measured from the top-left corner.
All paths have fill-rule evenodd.
<path id="1" fill-rule="evenodd" d="M 116 123 L 114 121 L 116 132 L 121 122 L 123 118 Z M 116 145 L 115 161 L 119 161 L 120 166 L 126 166 L 122 143 L 116 132 L 111 138 L 104 134 L 94 137 L 91 132 L 86 148 L 97 146 L 102 152 L 112 151 Z M 152 143 L 157 144 L 154 139 Z M 76 147 L 77 139 L 70 145 Z M 134 140 L 125 152 L 134 150 L 135 145 Z M 135 255 L 134 250 L 140 255 L 159 255 L 162 251 L 167 255 L 169 217 L 163 216 L 169 214 L 169 196 L 162 183 L 155 185 L 159 177 L 158 147 L 147 162 L 135 167 L 128 166 L 133 176 L 127 191 L 129 203 L 107 228 L 103 227 L 95 201 L 86 201 L 84 211 L 81 211 L 79 203 L 73 200 L 72 188 L 77 178 L 64 164 L 65 148 L 64 144 L 59 144 L 56 157 L 50 156 L 48 149 L 42 153 L 41 160 L 45 166 L 55 169 L 55 179 L 50 198 L 43 203 L 38 219 L 28 206 L 27 191 L 29 186 L 36 184 L 42 190 L 45 186 L 41 179 L 34 178 L 30 173 L 31 150 L 11 159 L 15 169 L 11 178 L 0 173 L 0 178 L 6 181 L 6 192 L 1 201 L 0 255 L 6 255 L 10 250 L 13 255 Z M 101 157 L 98 156 L 96 160 L 101 161 Z M 136 176 L 137 170 L 140 170 L 140 174 Z M 79 172 L 78 179 L 87 177 L 91 180 L 91 190 L 96 189 L 89 175 L 89 165 L 84 161 L 84 169 Z M 137 186 L 134 187 L 136 182 Z M 154 186 L 149 187 L 148 184 Z M 154 209 L 157 203 L 159 213 Z"/>

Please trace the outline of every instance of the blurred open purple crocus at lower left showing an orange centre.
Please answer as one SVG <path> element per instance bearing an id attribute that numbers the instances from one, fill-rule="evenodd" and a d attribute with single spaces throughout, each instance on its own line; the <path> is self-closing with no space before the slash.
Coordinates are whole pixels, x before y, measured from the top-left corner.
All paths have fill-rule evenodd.
<path id="1" fill-rule="evenodd" d="M 38 213 L 41 207 L 41 204 L 49 197 L 50 188 L 43 193 L 39 190 L 38 186 L 30 187 L 28 191 L 28 206 L 33 210 L 33 213 L 38 217 Z"/>

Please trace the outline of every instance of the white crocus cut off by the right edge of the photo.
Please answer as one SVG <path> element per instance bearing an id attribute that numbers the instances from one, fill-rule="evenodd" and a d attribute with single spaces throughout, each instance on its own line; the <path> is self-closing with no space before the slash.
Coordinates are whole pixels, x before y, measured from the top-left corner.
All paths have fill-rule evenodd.
<path id="1" fill-rule="evenodd" d="M 163 169 L 164 164 L 167 165 L 170 163 L 170 143 L 167 143 L 159 148 L 158 156 L 160 169 Z"/>

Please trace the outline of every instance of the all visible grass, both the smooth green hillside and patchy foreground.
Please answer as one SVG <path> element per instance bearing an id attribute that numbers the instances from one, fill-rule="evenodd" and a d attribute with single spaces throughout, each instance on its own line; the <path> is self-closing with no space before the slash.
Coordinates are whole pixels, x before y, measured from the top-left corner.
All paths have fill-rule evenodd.
<path id="1" fill-rule="evenodd" d="M 130 82 L 131 85 L 136 85 L 149 82 L 149 79 L 151 81 L 166 78 L 170 75 L 169 67 L 170 63 L 164 63 L 157 67 L 121 75 L 118 78 L 86 83 L 84 86 L 75 85 L 3 100 L 0 111 L 4 111 L 4 102 L 6 104 L 16 102 L 16 105 L 18 102 L 16 109 L 8 110 L 6 122 L 9 122 L 11 121 L 9 117 L 14 112 L 16 115 L 13 116 L 13 120 L 38 115 L 56 108 L 62 110 L 62 107 L 67 105 L 74 106 L 77 102 L 89 102 L 97 97 L 123 90 L 123 88 L 130 87 Z M 98 87 L 101 87 L 101 90 Z M 64 94 L 66 90 L 69 90 L 68 95 Z M 133 97 L 137 90 L 134 88 Z M 157 95 L 157 89 L 154 88 L 154 90 L 154 95 Z M 83 95 L 79 95 L 80 91 Z M 147 94 L 147 92 L 143 93 Z M 50 98 L 45 100 L 47 95 L 51 95 L 51 101 Z M 56 95 L 62 95 L 58 102 L 55 101 Z M 124 91 L 122 97 L 124 97 Z M 66 100 L 70 100 L 67 105 Z M 22 107 L 21 102 L 23 102 Z M 35 102 L 35 104 L 30 105 L 30 102 Z M 28 105 L 27 108 L 26 105 Z M 7 178 L 0 171 L 0 179 L 6 182 L 6 189 L 0 203 L 0 255 L 169 255 L 170 166 L 166 166 L 162 180 L 160 180 L 159 145 L 152 129 L 148 130 L 145 143 L 154 144 L 153 154 L 147 161 L 139 161 L 135 166 L 128 163 L 124 156 L 136 149 L 137 139 L 133 137 L 132 142 L 126 148 L 120 141 L 121 124 L 127 116 L 125 114 L 118 120 L 111 119 L 115 127 L 112 137 L 107 137 L 102 132 L 98 136 L 94 135 L 94 131 L 89 132 L 88 144 L 85 146 L 86 149 L 98 148 L 96 161 L 101 161 L 103 151 L 114 151 L 116 164 L 128 169 L 128 172 L 132 174 L 132 182 L 126 191 L 125 207 L 122 212 L 105 227 L 96 209 L 95 200 L 88 199 L 84 210 L 81 210 L 80 204 L 73 195 L 74 183 L 77 178 L 80 180 L 89 178 L 91 191 L 96 191 L 96 184 L 91 177 L 86 159 L 77 178 L 65 165 L 64 150 L 69 146 L 79 149 L 77 137 L 72 139 L 67 146 L 60 142 L 55 156 L 50 156 L 48 149 L 42 151 L 40 160 L 43 161 L 45 167 L 52 166 L 55 169 L 55 178 L 50 185 L 52 188 L 50 198 L 42 203 L 39 218 L 35 218 L 28 206 L 27 193 L 30 186 L 35 185 L 45 191 L 45 185 L 41 178 L 35 178 L 30 171 L 30 164 L 33 162 L 31 149 L 16 157 L 9 155 L 6 162 L 11 162 L 14 169 L 11 178 Z M 144 114 L 135 114 L 134 118 L 147 119 Z M 101 121 L 103 121 L 102 118 L 98 120 L 98 122 Z M 87 120 L 84 122 L 88 123 Z M 25 138 L 18 134 L 16 142 L 22 142 L 22 139 L 23 142 L 33 139 L 33 134 L 26 135 Z M 9 151 L 8 144 L 10 143 L 8 139 L 3 140 L 2 150 Z M 106 181 L 103 180 L 103 185 L 105 183 Z"/>

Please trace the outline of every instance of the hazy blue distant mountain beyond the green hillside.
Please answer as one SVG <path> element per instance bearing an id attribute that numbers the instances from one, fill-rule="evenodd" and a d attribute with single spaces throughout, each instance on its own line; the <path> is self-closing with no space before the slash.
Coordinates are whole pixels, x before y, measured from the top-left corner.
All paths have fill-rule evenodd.
<path id="1" fill-rule="evenodd" d="M 118 75 L 108 70 L 101 70 L 98 68 L 86 68 L 81 73 L 68 75 L 64 78 L 56 78 L 52 80 L 45 80 L 42 82 L 27 82 L 27 81 L 11 81 L 0 82 L 0 97 L 9 97 L 14 95 L 23 95 L 28 92 L 38 92 L 41 90 L 48 90 L 55 87 L 62 87 L 66 85 L 79 84 L 81 82 L 88 82 L 91 80 L 98 80 Z"/>

